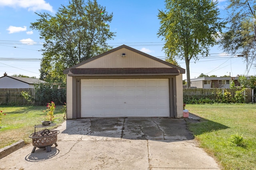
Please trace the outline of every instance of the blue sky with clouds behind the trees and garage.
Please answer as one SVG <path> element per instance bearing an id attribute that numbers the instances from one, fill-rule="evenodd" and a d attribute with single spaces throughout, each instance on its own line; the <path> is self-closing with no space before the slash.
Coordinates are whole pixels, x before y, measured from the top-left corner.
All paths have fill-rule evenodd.
<path id="1" fill-rule="evenodd" d="M 128 45 L 134 49 L 148 53 L 154 57 L 165 59 L 162 47 L 164 42 L 157 37 L 160 27 L 158 9 L 164 10 L 164 0 L 98 0 L 98 4 L 106 7 L 108 13 L 113 12 L 110 30 L 116 32 L 109 45 L 118 47 Z M 38 16 L 34 12 L 47 12 L 54 15 L 58 8 L 68 5 L 68 0 L 0 0 L 0 76 L 6 72 L 9 76 L 23 74 L 40 76 L 40 59 L 42 58 L 43 39 L 38 31 L 30 29 L 30 23 Z M 222 18 L 226 15 L 225 0 L 218 2 Z M 246 70 L 243 59 L 224 54 L 216 46 L 211 48 L 211 56 L 190 63 L 190 78 L 197 78 L 201 73 L 217 76 L 237 74 L 255 75 L 256 70 Z M 182 68 L 186 68 L 183 60 L 177 59 Z M 183 75 L 186 79 L 186 74 Z"/>

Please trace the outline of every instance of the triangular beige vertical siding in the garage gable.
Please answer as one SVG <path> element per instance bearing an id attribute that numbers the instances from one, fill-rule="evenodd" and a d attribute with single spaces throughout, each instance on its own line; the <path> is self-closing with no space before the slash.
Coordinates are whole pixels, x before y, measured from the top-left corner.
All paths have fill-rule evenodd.
<path id="1" fill-rule="evenodd" d="M 122 53 L 126 57 L 122 57 Z M 169 68 L 170 66 L 157 62 L 128 49 L 122 48 L 104 57 L 100 57 L 77 68 Z"/>

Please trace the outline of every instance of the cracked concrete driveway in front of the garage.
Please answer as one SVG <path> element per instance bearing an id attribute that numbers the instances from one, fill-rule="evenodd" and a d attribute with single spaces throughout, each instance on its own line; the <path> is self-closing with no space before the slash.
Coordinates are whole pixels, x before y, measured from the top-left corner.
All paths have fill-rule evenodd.
<path id="1" fill-rule="evenodd" d="M 33 127 L 32 127 L 33 128 Z M 51 152 L 32 144 L 0 159 L 0 169 L 213 170 L 184 119 L 91 118 L 67 120 Z"/>

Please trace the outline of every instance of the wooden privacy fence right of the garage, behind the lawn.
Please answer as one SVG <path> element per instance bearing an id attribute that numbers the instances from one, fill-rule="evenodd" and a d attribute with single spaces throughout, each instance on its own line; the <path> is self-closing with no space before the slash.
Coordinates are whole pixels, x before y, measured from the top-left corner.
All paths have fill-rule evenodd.
<path id="1" fill-rule="evenodd" d="M 230 89 L 230 88 L 183 88 L 183 100 L 189 99 L 205 99 L 209 98 L 216 100 L 217 92 L 230 92 L 232 96 L 236 94 L 236 91 L 241 89 Z M 254 89 L 246 88 L 244 90 L 244 99 L 246 103 L 254 103 Z"/>

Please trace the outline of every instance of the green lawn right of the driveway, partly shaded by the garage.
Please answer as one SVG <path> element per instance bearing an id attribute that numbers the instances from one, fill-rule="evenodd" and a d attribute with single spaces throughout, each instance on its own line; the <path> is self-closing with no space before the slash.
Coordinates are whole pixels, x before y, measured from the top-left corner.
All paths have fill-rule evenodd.
<path id="1" fill-rule="evenodd" d="M 216 158 L 224 170 L 256 170 L 255 104 L 186 104 L 186 109 L 202 117 L 188 121 L 200 147 Z M 243 145 L 230 145 L 232 135 L 244 138 Z"/>

